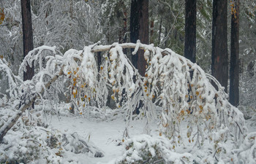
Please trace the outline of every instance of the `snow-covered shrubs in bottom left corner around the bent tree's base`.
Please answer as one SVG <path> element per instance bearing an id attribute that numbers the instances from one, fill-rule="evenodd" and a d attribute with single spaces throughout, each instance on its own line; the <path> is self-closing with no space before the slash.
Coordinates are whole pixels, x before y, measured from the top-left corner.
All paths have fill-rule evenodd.
<path id="1" fill-rule="evenodd" d="M 15 111 L 1 109 L 1 122 L 8 120 Z M 91 142 L 77 133 L 61 133 L 46 128 L 43 112 L 27 111 L 21 120 L 9 130 L 0 144 L 0 163 L 64 163 L 75 158 L 64 159 L 70 153 L 103 157 L 103 153 Z M 1 123 L 0 123 L 1 125 Z"/>

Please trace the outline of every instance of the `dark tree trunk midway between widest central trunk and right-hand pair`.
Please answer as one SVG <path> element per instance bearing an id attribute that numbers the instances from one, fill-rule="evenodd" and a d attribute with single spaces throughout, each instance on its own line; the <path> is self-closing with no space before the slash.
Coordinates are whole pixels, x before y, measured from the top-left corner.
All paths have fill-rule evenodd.
<path id="1" fill-rule="evenodd" d="M 197 0 L 186 0 L 185 10 L 184 56 L 195 63 Z"/>

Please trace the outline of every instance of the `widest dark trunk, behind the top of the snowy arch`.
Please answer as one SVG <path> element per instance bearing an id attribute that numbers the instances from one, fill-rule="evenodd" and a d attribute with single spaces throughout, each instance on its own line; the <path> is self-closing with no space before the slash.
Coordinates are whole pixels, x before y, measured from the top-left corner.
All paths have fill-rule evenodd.
<path id="1" fill-rule="evenodd" d="M 130 41 L 136 43 L 140 39 L 141 43 L 148 44 L 148 0 L 132 0 L 130 23 Z M 146 60 L 142 50 L 132 55 L 132 64 L 140 75 L 145 75 Z"/>

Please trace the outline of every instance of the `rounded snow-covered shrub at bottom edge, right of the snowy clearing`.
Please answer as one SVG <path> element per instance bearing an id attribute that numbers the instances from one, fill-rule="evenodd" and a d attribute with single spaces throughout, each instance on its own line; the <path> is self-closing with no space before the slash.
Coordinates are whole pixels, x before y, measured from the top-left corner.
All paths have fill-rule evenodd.
<path id="1" fill-rule="evenodd" d="M 127 151 L 116 163 L 192 163 L 189 153 L 177 153 L 163 136 L 135 136 L 125 143 Z"/>

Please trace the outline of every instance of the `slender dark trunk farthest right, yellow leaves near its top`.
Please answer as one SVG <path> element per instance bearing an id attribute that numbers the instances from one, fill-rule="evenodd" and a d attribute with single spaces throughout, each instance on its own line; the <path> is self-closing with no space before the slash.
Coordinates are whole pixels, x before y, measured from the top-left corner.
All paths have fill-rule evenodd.
<path id="1" fill-rule="evenodd" d="M 234 1 L 231 15 L 230 103 L 239 104 L 239 0 Z M 236 11 L 236 12 L 235 12 Z"/>

